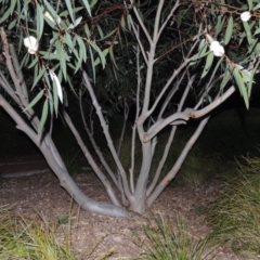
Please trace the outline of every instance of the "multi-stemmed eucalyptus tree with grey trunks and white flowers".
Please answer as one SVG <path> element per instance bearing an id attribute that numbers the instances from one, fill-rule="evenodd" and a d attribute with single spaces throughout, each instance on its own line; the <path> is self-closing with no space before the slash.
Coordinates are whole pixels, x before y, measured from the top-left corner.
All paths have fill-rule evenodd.
<path id="1" fill-rule="evenodd" d="M 81 208 L 114 217 L 128 217 L 128 209 L 142 213 L 176 177 L 210 112 L 235 90 L 249 106 L 259 66 L 259 9 L 258 0 L 31 0 L 23 4 L 2 0 L 0 106 L 39 147 L 61 185 Z M 190 99 L 191 92 L 195 99 Z M 95 157 L 66 112 L 72 94 L 78 101 Z M 122 110 L 117 146 L 100 98 L 107 106 Z M 40 116 L 34 109 L 38 102 L 43 104 Z M 131 162 L 126 169 L 120 153 L 130 106 L 135 115 Z M 94 140 L 93 112 L 115 168 Z M 58 114 L 110 203 L 88 197 L 69 176 L 52 139 Z M 160 178 L 166 161 L 171 161 L 168 155 L 178 127 L 194 119 L 199 121 L 197 129 Z M 156 172 L 151 174 L 158 134 L 166 128 L 169 136 Z M 136 145 L 141 145 L 141 158 L 135 157 Z"/>

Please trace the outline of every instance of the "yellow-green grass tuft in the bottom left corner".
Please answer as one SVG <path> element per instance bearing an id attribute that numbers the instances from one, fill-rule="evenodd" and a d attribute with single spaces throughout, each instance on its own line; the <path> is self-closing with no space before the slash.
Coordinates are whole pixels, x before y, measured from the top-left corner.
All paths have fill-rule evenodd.
<path id="1" fill-rule="evenodd" d="M 65 234 L 64 234 L 65 235 Z M 56 240 L 56 226 L 41 219 L 27 220 L 0 208 L 0 259 L 75 259 L 70 243 Z"/>

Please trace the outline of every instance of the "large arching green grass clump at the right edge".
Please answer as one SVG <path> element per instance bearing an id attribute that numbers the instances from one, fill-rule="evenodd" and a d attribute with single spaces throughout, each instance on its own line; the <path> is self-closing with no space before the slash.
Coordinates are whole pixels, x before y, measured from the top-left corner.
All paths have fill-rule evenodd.
<path id="1" fill-rule="evenodd" d="M 207 220 L 210 239 L 231 246 L 246 259 L 260 255 L 260 158 L 246 158 L 239 173 L 226 182 L 223 193 L 210 208 Z"/>

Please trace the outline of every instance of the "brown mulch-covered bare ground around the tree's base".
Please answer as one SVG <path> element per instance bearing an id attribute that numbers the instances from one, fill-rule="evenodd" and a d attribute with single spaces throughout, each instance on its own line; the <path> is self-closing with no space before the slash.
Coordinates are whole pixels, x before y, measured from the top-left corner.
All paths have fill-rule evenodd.
<path id="1" fill-rule="evenodd" d="M 100 242 L 91 256 L 79 259 L 98 259 L 108 250 L 114 251 L 109 259 L 140 259 L 147 243 L 143 225 L 157 214 L 173 223 L 179 216 L 183 217 L 197 239 L 210 232 L 202 210 L 216 198 L 219 181 L 211 181 L 202 188 L 169 186 L 144 216 L 132 212 L 131 218 L 119 219 L 80 210 L 60 186 L 55 176 L 42 171 L 44 169 L 48 166 L 38 156 L 0 160 L 0 205 L 8 204 L 13 212 L 28 219 L 40 214 L 52 223 L 70 214 L 72 242 L 78 252 L 87 253 Z M 34 171 L 38 173 L 32 174 Z M 77 173 L 74 179 L 88 196 L 109 202 L 101 182 L 91 172 Z M 61 225 L 60 239 L 63 230 L 64 225 Z M 236 260 L 238 257 L 229 248 L 219 247 L 205 259 Z"/>

